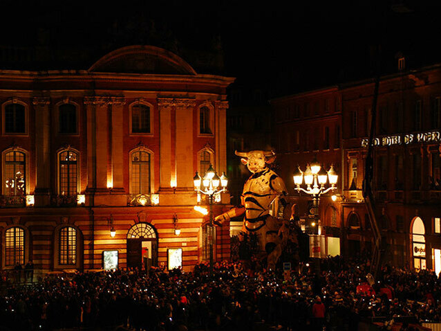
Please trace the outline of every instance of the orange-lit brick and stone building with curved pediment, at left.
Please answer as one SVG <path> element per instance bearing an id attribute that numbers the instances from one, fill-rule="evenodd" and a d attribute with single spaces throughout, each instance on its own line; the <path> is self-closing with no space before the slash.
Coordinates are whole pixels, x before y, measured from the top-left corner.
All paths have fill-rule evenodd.
<path id="1" fill-rule="evenodd" d="M 185 270 L 207 258 L 193 177 L 226 170 L 233 81 L 154 46 L 88 70 L 0 71 L 1 269 L 100 269 L 115 251 L 119 267 L 167 265 L 171 249 Z M 229 257 L 228 224 L 214 239 L 215 259 Z"/>

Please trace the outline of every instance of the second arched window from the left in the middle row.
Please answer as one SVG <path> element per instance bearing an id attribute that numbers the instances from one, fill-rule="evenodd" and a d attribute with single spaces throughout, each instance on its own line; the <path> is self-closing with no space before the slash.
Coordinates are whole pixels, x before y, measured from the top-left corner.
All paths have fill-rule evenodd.
<path id="1" fill-rule="evenodd" d="M 76 195 L 78 190 L 78 155 L 71 150 L 59 153 L 59 194 Z"/>

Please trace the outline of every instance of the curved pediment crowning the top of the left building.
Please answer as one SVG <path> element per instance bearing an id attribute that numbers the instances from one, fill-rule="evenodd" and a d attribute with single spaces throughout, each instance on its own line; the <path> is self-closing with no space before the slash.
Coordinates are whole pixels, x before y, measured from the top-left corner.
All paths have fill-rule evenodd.
<path id="1" fill-rule="evenodd" d="M 156 46 L 126 46 L 104 55 L 89 72 L 196 75 L 178 55 Z"/>

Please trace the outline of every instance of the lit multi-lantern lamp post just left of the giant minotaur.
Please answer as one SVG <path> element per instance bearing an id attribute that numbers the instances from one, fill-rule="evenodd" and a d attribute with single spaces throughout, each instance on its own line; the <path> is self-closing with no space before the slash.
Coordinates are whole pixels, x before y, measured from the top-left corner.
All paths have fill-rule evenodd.
<path id="1" fill-rule="evenodd" d="M 207 195 L 208 204 L 209 204 L 209 226 L 207 226 L 207 237 L 209 242 L 209 266 L 210 269 L 213 268 L 213 235 L 214 235 L 214 226 L 213 226 L 213 202 L 214 196 L 220 193 L 223 193 L 227 190 L 228 179 L 225 176 L 225 172 L 219 177 L 216 170 L 214 170 L 213 166 L 210 164 L 207 172 L 203 178 L 200 178 L 198 172 L 196 171 L 196 175 L 193 178 L 194 182 L 194 190 L 196 192 L 201 193 L 203 195 Z M 201 185 L 202 184 L 202 185 Z"/>

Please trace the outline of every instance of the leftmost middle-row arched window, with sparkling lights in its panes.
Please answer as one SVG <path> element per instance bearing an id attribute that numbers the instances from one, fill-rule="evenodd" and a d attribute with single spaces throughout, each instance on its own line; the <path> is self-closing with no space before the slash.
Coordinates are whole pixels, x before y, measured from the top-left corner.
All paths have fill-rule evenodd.
<path id="1" fill-rule="evenodd" d="M 26 195 L 26 154 L 11 151 L 4 155 L 4 195 Z"/>

